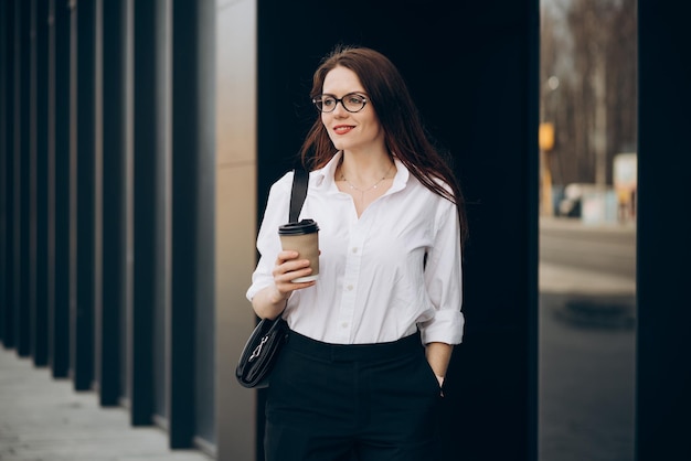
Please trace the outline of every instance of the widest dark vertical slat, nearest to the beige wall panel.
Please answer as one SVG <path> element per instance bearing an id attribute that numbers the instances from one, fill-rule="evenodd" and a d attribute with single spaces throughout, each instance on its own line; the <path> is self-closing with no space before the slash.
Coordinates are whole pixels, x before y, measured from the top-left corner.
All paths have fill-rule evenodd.
<path id="1" fill-rule="evenodd" d="M 195 1 L 172 1 L 172 227 L 171 297 L 166 360 L 172 448 L 194 435 L 194 325 L 198 270 L 199 40 Z"/>

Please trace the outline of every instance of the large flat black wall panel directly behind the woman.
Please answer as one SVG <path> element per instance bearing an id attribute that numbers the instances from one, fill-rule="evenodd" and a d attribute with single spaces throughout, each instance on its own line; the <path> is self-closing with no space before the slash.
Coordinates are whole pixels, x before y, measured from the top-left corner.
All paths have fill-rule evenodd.
<path id="1" fill-rule="evenodd" d="M 337 43 L 400 67 L 468 201 L 467 326 L 447 377 L 445 459 L 534 459 L 539 2 L 259 2 L 259 213 L 316 117 L 311 74 Z"/>

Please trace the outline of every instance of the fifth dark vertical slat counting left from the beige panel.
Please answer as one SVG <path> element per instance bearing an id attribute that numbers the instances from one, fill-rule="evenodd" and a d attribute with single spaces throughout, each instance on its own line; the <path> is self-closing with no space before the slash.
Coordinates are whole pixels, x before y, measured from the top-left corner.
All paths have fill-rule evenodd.
<path id="1" fill-rule="evenodd" d="M 70 372 L 70 33 L 71 7 L 67 0 L 54 0 L 54 308 L 49 323 L 49 355 L 53 377 Z"/>

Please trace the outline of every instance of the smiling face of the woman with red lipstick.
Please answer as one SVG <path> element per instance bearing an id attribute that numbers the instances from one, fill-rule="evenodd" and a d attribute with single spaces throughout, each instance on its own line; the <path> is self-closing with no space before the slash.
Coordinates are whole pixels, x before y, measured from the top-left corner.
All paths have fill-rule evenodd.
<path id="1" fill-rule="evenodd" d="M 346 67 L 334 67 L 327 74 L 323 81 L 323 95 L 340 99 L 352 93 L 368 98 L 362 110 L 350 112 L 342 103 L 337 103 L 333 111 L 321 112 L 321 122 L 331 142 L 338 150 L 343 151 L 383 149 L 384 130 L 358 75 Z"/>

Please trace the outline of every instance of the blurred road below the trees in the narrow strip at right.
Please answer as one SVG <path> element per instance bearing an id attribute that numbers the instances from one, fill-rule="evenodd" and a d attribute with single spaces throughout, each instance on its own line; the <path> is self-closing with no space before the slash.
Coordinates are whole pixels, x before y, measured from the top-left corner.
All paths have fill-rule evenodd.
<path id="1" fill-rule="evenodd" d="M 632 461 L 636 233 L 543 219 L 540 460 Z"/>

